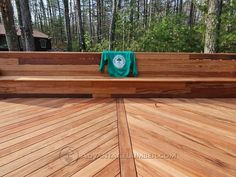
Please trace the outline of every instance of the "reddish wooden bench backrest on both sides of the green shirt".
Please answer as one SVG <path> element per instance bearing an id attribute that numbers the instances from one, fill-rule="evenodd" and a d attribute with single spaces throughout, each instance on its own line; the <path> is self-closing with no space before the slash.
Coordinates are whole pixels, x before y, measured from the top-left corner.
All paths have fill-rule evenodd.
<path id="1" fill-rule="evenodd" d="M 0 52 L 3 76 L 107 76 L 101 53 Z M 136 53 L 140 77 L 235 77 L 236 54 Z"/>

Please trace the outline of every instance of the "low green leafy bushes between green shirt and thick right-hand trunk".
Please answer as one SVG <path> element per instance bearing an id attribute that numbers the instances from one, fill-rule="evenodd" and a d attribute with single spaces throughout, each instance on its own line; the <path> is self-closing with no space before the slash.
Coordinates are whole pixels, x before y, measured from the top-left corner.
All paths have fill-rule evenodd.
<path id="1" fill-rule="evenodd" d="M 185 16 L 168 16 L 160 21 L 151 23 L 146 30 L 143 26 L 135 28 L 138 36 L 125 37 L 125 44 L 117 42 L 117 49 L 134 51 L 156 51 L 156 52 L 201 52 L 203 50 L 202 35 L 197 27 L 190 28 Z M 138 24 L 137 24 L 138 25 Z M 129 34 L 126 31 L 123 34 Z M 117 31 L 118 34 L 121 31 Z"/>

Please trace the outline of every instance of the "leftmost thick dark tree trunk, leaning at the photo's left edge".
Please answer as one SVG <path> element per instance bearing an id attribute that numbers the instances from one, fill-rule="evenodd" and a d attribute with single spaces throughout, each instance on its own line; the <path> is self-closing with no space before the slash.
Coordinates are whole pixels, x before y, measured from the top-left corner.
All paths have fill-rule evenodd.
<path id="1" fill-rule="evenodd" d="M 20 50 L 19 41 L 16 34 L 14 23 L 13 8 L 10 0 L 2 0 L 0 2 L 0 10 L 2 12 L 3 24 L 6 31 L 6 40 L 10 51 Z"/>

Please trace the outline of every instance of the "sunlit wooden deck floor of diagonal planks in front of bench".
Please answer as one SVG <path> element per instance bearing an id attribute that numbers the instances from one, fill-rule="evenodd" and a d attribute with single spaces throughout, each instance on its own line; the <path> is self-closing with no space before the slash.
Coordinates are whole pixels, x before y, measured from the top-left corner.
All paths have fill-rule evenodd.
<path id="1" fill-rule="evenodd" d="M 0 176 L 235 176 L 236 99 L 0 100 Z"/>

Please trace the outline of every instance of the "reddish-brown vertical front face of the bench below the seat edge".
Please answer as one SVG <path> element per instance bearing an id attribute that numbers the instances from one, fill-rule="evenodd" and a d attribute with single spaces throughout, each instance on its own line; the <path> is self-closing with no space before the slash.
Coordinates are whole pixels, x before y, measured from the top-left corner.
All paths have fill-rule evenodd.
<path id="1" fill-rule="evenodd" d="M 149 97 L 236 97 L 236 81 L 1 81 L 0 94 L 103 94 Z M 97 95 L 99 96 L 99 95 Z M 115 96 L 116 97 L 116 96 Z"/>

